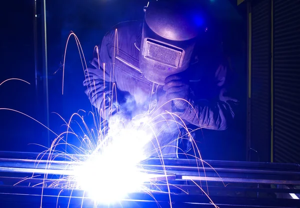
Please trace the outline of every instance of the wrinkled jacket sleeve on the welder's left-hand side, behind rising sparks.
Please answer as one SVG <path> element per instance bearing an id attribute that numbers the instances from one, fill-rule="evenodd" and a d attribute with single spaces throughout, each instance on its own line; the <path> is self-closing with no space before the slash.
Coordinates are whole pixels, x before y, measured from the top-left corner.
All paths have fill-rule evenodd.
<path id="1" fill-rule="evenodd" d="M 97 108 L 102 118 L 116 111 L 116 83 L 113 77 L 113 48 L 111 40 L 113 31 L 102 39 L 100 48 L 96 47 L 90 66 L 84 70 L 83 86 L 90 103 Z M 105 111 L 104 111 L 105 110 Z M 105 115 L 103 114 L 105 112 Z"/>

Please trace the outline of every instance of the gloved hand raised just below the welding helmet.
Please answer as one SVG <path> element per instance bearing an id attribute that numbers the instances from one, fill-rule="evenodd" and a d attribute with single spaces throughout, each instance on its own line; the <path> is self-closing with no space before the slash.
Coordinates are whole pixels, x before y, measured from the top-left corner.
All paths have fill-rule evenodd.
<path id="1" fill-rule="evenodd" d="M 183 111 L 188 105 L 190 93 L 188 79 L 180 74 L 174 74 L 166 77 L 164 83 L 166 98 L 172 100 L 176 110 Z"/>

